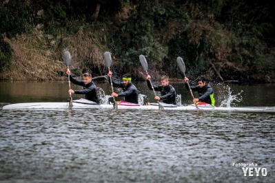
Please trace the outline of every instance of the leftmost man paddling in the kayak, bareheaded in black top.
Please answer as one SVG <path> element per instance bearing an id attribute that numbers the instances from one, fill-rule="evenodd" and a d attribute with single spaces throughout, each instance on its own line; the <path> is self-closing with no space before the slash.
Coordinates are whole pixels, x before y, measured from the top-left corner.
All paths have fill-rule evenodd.
<path id="1" fill-rule="evenodd" d="M 85 73 L 83 74 L 83 80 L 76 80 L 72 77 L 70 69 L 67 69 L 66 74 L 70 75 L 70 81 L 75 85 L 83 86 L 81 90 L 72 90 L 69 89 L 69 94 L 83 94 L 85 99 L 91 100 L 95 103 L 99 103 L 99 96 L 96 94 L 96 85 L 92 82 L 92 74 Z"/>

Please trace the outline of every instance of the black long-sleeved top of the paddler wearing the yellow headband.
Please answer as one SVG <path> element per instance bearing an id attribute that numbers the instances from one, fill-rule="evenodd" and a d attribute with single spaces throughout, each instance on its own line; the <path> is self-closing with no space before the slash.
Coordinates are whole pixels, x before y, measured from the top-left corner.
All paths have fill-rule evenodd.
<path id="1" fill-rule="evenodd" d="M 128 103 L 139 103 L 139 90 L 136 88 L 135 85 L 133 85 L 133 83 L 124 86 L 122 82 L 116 82 L 113 79 L 112 83 L 114 87 L 121 87 L 123 89 L 123 92 L 119 93 L 119 96 L 124 96 L 125 101 L 127 101 Z"/>

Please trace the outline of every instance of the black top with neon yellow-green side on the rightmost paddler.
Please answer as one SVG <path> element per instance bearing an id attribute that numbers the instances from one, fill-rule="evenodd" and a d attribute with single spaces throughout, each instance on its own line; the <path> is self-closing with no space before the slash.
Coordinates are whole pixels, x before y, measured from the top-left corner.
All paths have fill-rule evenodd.
<path id="1" fill-rule="evenodd" d="M 185 88 L 187 90 L 190 90 L 187 83 L 185 83 Z M 198 101 L 203 102 L 203 103 L 208 103 L 210 105 L 215 105 L 215 100 L 214 100 L 214 92 L 212 87 L 207 84 L 205 87 L 191 87 L 192 91 L 198 92 Z"/>

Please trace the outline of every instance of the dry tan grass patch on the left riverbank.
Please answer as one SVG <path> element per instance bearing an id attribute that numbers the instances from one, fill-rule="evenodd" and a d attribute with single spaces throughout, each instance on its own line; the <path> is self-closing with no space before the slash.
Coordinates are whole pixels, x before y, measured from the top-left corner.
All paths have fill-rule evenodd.
<path id="1" fill-rule="evenodd" d="M 65 32 L 65 31 L 60 31 Z M 75 34 L 46 34 L 34 28 L 28 34 L 4 38 L 12 48 L 11 63 L 0 74 L 3 80 L 63 80 L 66 65 L 64 50 L 72 54 L 72 70 L 103 74 L 103 52 L 106 48 L 104 28 L 81 26 Z"/>

